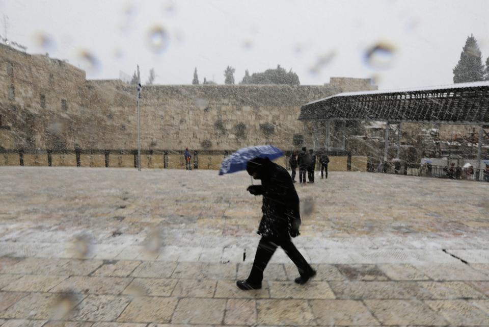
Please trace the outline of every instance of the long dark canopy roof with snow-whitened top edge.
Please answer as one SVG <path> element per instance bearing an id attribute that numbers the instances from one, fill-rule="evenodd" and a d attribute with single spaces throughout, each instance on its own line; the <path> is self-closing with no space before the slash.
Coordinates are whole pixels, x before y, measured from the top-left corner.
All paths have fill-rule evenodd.
<path id="1" fill-rule="evenodd" d="M 300 120 L 489 123 L 489 81 L 345 92 L 301 107 Z"/>

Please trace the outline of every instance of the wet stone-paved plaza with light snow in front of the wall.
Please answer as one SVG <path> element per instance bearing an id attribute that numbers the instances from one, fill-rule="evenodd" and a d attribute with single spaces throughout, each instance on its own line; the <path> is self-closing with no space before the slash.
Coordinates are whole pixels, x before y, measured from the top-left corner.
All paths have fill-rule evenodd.
<path id="1" fill-rule="evenodd" d="M 0 167 L 0 325 L 489 326 L 489 183 L 330 172 L 296 185 L 317 268 L 278 249 L 240 291 L 245 172 Z M 259 181 L 254 181 L 259 184 Z"/>

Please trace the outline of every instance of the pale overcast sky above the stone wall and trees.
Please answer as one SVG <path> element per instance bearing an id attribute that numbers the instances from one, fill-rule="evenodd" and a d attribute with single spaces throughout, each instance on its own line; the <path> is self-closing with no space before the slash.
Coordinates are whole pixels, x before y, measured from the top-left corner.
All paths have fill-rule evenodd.
<path id="1" fill-rule="evenodd" d="M 9 39 L 67 59 L 88 79 L 139 64 L 143 82 L 154 67 L 156 84 L 191 84 L 197 67 L 200 82 L 222 84 L 230 65 L 238 83 L 245 69 L 280 64 L 303 85 L 356 77 L 393 89 L 451 84 L 471 33 L 489 56 L 487 0 L 0 0 L 0 13 Z M 366 60 L 378 43 L 392 55 Z"/>

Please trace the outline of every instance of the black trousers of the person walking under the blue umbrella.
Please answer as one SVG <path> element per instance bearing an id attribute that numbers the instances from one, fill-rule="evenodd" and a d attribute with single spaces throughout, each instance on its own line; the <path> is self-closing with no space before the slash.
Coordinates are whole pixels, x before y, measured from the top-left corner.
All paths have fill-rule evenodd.
<path id="1" fill-rule="evenodd" d="M 247 281 L 251 284 L 260 284 L 263 280 L 263 270 L 265 270 L 271 256 L 274 255 L 277 247 L 280 246 L 285 254 L 297 266 L 297 270 L 301 276 L 307 276 L 311 273 L 312 267 L 307 263 L 306 259 L 297 250 L 290 237 L 286 238 L 267 238 L 262 237 L 258 248 L 256 249 L 255 261 L 251 268 L 250 276 Z"/>

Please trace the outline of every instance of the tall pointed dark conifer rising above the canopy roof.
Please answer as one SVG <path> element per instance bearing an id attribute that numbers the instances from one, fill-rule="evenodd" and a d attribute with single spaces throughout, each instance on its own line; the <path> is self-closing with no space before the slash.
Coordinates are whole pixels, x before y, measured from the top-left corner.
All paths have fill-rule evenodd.
<path id="1" fill-rule="evenodd" d="M 482 81 L 484 66 L 477 44 L 477 40 L 471 34 L 467 37 L 463 51 L 457 65 L 453 68 L 453 83 Z"/>

